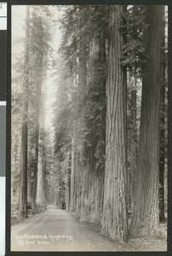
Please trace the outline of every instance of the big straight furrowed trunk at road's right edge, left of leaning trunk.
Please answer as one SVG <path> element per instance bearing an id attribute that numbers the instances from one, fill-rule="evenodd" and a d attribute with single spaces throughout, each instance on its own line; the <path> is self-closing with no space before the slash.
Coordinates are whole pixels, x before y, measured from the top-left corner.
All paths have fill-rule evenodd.
<path id="1" fill-rule="evenodd" d="M 122 66 L 123 6 L 110 6 L 106 105 L 106 168 L 101 232 L 128 239 L 126 159 L 126 72 Z M 115 43 L 114 43 L 115 42 Z"/>

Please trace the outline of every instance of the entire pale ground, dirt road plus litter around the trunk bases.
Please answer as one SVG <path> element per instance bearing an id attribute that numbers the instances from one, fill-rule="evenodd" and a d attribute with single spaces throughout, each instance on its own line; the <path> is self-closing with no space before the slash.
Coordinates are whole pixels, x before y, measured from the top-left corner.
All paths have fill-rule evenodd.
<path id="1" fill-rule="evenodd" d="M 167 225 L 161 235 L 128 243 L 112 241 L 100 234 L 100 225 L 79 222 L 74 212 L 49 206 L 48 210 L 11 228 L 11 251 L 166 251 Z"/>

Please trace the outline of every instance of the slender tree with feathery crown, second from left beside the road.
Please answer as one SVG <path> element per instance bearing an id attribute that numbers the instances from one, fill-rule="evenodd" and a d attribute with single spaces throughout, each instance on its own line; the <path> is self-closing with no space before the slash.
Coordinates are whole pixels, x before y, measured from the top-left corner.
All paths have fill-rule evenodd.
<path id="1" fill-rule="evenodd" d="M 37 169 L 39 155 L 39 137 L 40 137 L 40 108 L 41 108 L 41 92 L 43 87 L 43 56 L 45 55 L 45 47 L 43 42 L 44 28 L 43 19 L 37 15 L 37 7 L 32 8 L 32 83 L 36 85 L 34 89 L 35 100 L 35 147 L 34 147 L 34 173 L 32 184 L 32 213 L 36 213 L 36 196 L 37 196 Z M 35 29 L 37 28 L 37 30 Z M 40 48 L 41 46 L 41 48 Z"/>

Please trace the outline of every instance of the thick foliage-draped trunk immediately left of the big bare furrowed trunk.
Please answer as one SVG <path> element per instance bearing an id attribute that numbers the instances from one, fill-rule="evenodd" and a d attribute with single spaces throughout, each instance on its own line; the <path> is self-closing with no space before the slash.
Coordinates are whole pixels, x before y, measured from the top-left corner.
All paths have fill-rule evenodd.
<path id="1" fill-rule="evenodd" d="M 103 207 L 105 178 L 105 126 L 106 126 L 106 44 L 103 33 L 94 38 L 89 53 L 89 95 L 90 114 L 95 119 L 85 119 L 85 127 L 89 134 L 84 143 L 84 169 L 82 186 L 81 221 L 100 224 Z M 95 93 L 99 96 L 93 96 Z M 101 110 L 99 106 L 102 106 Z M 97 154 L 99 151 L 99 154 Z"/>

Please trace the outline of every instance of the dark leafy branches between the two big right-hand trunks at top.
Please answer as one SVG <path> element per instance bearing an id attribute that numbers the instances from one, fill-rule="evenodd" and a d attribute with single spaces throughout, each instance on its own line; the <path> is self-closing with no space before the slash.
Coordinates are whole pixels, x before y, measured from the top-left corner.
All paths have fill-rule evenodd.
<path id="1" fill-rule="evenodd" d="M 144 53 L 145 7 L 140 5 L 129 6 L 123 14 L 125 25 L 122 27 L 125 38 L 123 46 L 123 65 L 129 70 L 137 70 L 138 77 L 142 76 L 146 64 Z"/>

